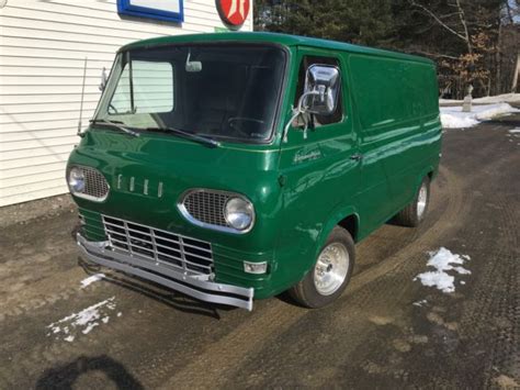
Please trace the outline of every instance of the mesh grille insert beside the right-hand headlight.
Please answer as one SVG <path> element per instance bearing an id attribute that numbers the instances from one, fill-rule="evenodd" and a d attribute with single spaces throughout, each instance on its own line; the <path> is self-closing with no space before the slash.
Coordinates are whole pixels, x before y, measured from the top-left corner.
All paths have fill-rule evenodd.
<path id="1" fill-rule="evenodd" d="M 182 204 L 200 222 L 229 227 L 224 218 L 224 207 L 229 198 L 231 196 L 226 192 L 195 190 L 188 193 Z"/>

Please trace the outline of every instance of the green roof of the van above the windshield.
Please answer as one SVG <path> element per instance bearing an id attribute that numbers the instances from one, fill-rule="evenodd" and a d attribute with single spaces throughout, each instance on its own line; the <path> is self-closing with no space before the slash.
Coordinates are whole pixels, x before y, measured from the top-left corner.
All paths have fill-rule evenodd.
<path id="1" fill-rule="evenodd" d="M 284 46 L 307 46 L 316 48 L 325 48 L 331 51 L 341 51 L 349 53 L 374 55 L 378 57 L 389 57 L 396 59 L 405 59 L 412 62 L 420 62 L 433 65 L 433 62 L 420 56 L 384 51 L 378 48 L 372 48 L 366 46 L 353 45 L 344 42 L 328 41 L 320 38 L 313 38 L 299 35 L 279 34 L 279 33 L 264 33 L 264 32 L 226 32 L 226 33 L 204 33 L 204 34 L 185 34 L 185 35 L 171 35 L 161 36 L 156 38 L 143 40 L 133 42 L 123 46 L 120 51 L 126 51 L 132 48 L 161 46 L 176 43 L 215 43 L 215 42 L 263 42 L 272 43 Z"/>

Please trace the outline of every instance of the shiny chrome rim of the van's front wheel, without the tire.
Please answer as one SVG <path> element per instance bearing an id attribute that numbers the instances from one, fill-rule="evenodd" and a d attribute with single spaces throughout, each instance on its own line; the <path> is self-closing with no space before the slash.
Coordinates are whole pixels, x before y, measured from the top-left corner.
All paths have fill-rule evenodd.
<path id="1" fill-rule="evenodd" d="M 314 268 L 314 286 L 321 296 L 331 296 L 343 285 L 349 272 L 350 258 L 341 243 L 327 245 Z"/>

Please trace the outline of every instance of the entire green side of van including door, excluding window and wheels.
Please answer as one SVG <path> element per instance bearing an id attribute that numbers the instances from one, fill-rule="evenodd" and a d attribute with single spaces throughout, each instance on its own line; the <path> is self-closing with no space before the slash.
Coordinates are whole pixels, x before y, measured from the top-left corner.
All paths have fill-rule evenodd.
<path id="1" fill-rule="evenodd" d="M 303 47 L 298 52 L 298 59 L 304 53 L 326 55 Z M 284 281 L 304 277 L 339 221 L 354 215 L 355 238 L 362 239 L 410 202 L 420 179 L 439 164 L 441 126 L 432 64 L 344 52 L 328 55 L 341 58 L 346 119 L 309 131 L 307 138 L 292 129 L 289 143 L 281 145 L 284 186 L 275 263 Z M 363 156 L 361 163 L 350 158 L 354 153 Z"/>

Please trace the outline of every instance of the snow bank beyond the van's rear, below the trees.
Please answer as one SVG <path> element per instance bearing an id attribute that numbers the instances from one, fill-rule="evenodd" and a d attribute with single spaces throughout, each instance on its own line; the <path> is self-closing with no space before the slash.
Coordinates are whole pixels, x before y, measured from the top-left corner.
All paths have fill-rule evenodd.
<path id="1" fill-rule="evenodd" d="M 441 122 L 444 129 L 466 129 L 520 110 L 507 103 L 473 105 L 473 112 L 462 112 L 462 107 L 441 107 Z"/>

